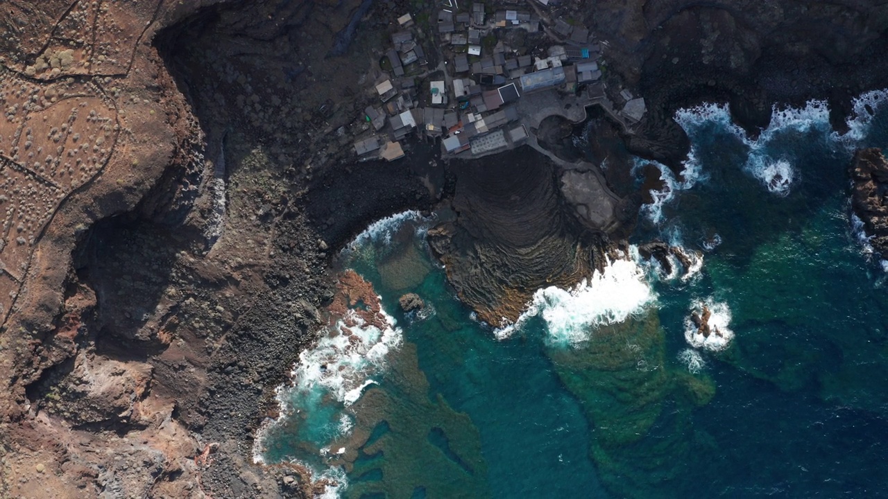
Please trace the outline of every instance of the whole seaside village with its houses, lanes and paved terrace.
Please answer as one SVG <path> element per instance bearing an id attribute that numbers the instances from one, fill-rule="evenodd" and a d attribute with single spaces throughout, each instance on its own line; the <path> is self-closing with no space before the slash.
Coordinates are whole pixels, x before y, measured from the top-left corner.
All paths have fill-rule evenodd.
<path id="1" fill-rule="evenodd" d="M 359 158 L 399 159 L 411 138 L 440 139 L 444 158 L 539 148 L 534 134 L 543 119 L 581 123 L 593 105 L 630 132 L 645 101 L 627 89 L 606 92 L 602 44 L 573 18 L 551 20 L 550 0 L 528 5 L 444 0 L 437 12 L 392 20 L 368 89 L 378 100 L 364 110 L 366 126 L 354 141 Z M 528 49 L 528 36 L 546 44 Z"/>

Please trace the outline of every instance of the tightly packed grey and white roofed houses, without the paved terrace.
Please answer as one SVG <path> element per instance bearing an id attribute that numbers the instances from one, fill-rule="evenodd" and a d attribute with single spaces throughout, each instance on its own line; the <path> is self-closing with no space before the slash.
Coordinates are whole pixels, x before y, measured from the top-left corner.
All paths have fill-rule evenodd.
<path id="1" fill-rule="evenodd" d="M 519 55 L 496 38 L 495 30 L 538 32 L 535 12 L 500 10 L 488 16 L 484 4 L 477 2 L 471 10 L 456 11 L 440 10 L 430 20 L 434 25 L 427 27 L 437 33 L 436 59 L 445 61 L 443 75 L 428 67 L 412 16 L 398 19 L 399 31 L 392 35 L 382 65 L 385 73 L 374 83 L 379 102 L 365 109 L 372 135 L 354 143 L 362 158 L 397 159 L 404 154 L 401 140 L 417 134 L 440 138 L 443 155 L 488 154 L 527 140 L 527 127 L 519 117 L 522 95 L 582 88 L 590 103 L 606 99 L 600 45 L 591 40 L 588 29 L 559 20 L 551 31 L 563 38 L 561 43 L 544 53 Z M 439 76 L 417 84 L 419 74 Z M 625 100 L 622 117 L 637 122 L 645 112 L 644 100 Z"/>

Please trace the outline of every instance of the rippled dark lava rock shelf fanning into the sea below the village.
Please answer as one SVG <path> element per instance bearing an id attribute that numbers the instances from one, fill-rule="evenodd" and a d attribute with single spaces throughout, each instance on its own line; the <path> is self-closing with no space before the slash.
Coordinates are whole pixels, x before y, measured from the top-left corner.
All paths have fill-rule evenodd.
<path id="1" fill-rule="evenodd" d="M 484 168 L 460 164 L 455 221 L 429 231 L 459 297 L 482 321 L 515 321 L 536 289 L 573 287 L 603 260 L 607 243 L 583 238 L 542 154 L 509 152 Z"/>

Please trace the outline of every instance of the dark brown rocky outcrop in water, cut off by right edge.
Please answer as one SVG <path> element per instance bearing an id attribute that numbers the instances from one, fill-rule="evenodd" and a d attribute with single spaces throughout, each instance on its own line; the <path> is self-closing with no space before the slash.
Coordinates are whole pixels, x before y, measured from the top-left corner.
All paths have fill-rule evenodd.
<path id="1" fill-rule="evenodd" d="M 869 243 L 888 255 L 888 160 L 876 147 L 854 154 L 851 165 L 851 206 L 863 222 Z"/>

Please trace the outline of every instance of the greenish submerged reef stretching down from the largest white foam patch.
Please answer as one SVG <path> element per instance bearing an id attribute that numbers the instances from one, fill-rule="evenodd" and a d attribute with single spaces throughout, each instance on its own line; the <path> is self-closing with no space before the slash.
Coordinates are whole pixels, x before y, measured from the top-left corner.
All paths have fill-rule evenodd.
<path id="1" fill-rule="evenodd" d="M 686 472 L 681 456 L 694 440 L 690 411 L 709 403 L 716 387 L 708 376 L 670 367 L 656 310 L 547 354 L 589 419 L 590 453 L 605 486 L 620 496 L 674 497 L 670 480 Z"/>

